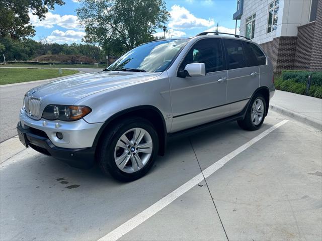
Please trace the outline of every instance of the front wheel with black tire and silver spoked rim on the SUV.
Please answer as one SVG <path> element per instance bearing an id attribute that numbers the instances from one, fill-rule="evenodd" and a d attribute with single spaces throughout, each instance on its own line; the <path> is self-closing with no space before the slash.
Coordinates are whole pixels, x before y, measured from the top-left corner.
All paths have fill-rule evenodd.
<path id="1" fill-rule="evenodd" d="M 104 174 L 130 182 L 144 176 L 152 167 L 158 153 L 158 136 L 146 119 L 122 119 L 103 135 L 97 156 Z"/>

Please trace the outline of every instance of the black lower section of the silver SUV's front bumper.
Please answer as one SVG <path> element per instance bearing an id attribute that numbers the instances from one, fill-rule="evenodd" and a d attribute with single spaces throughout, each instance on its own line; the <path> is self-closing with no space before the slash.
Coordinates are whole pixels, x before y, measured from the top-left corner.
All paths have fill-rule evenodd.
<path id="1" fill-rule="evenodd" d="M 88 169 L 95 163 L 95 147 L 77 149 L 56 147 L 44 132 L 39 132 L 34 128 L 24 129 L 21 122 L 18 123 L 17 131 L 20 141 L 26 147 L 52 156 L 72 167 Z"/>

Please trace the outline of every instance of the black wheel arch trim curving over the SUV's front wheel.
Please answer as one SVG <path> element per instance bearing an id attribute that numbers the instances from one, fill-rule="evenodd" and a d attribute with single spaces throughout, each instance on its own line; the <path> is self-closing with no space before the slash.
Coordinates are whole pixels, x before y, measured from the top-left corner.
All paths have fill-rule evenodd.
<path id="1" fill-rule="evenodd" d="M 110 116 L 103 126 L 100 128 L 98 134 L 96 135 L 93 143 L 93 147 L 97 147 L 100 139 L 102 138 L 102 134 L 109 130 L 109 127 L 116 123 L 121 118 L 131 117 L 131 116 L 139 116 L 147 119 L 152 123 L 155 128 L 158 139 L 159 139 L 159 150 L 158 154 L 163 156 L 166 152 L 167 146 L 167 127 L 166 121 L 161 113 L 161 111 L 152 105 L 139 105 L 135 107 L 131 107 L 128 109 L 121 110 L 112 116 Z"/>

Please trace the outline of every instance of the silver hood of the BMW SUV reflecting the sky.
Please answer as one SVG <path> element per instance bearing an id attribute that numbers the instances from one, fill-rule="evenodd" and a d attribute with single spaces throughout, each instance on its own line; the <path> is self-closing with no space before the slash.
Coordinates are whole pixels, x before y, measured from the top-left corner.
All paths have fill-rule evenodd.
<path id="1" fill-rule="evenodd" d="M 35 87 L 27 94 L 47 103 L 73 104 L 86 96 L 146 81 L 158 75 L 160 73 L 116 71 L 79 74 Z"/>

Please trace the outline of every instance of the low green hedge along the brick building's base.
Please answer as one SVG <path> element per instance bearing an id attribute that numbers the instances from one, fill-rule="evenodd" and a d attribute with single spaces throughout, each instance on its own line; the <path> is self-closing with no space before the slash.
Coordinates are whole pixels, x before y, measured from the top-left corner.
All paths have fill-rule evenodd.
<path id="1" fill-rule="evenodd" d="M 283 78 L 277 78 L 275 88 L 296 94 L 305 94 L 306 82 L 299 82 L 297 79 L 283 80 Z M 322 85 L 311 85 L 307 95 L 322 99 Z"/>

